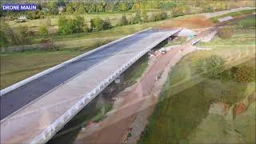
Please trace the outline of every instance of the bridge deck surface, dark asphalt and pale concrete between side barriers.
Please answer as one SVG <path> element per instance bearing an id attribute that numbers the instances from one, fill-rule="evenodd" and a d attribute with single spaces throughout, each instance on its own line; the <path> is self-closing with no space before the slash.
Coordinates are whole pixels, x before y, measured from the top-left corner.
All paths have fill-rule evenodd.
<path id="1" fill-rule="evenodd" d="M 124 63 L 129 62 L 130 58 L 150 46 L 153 48 L 156 43 L 162 42 L 163 39 L 176 32 L 178 30 L 147 30 L 135 34 L 81 58 L 77 62 L 72 62 L 62 69 L 46 74 L 36 82 L 30 82 L 27 86 L 17 89 L 17 92 L 14 90 L 14 92 L 7 93 L 3 97 L 6 99 L 7 96 L 10 97 L 10 101 L 6 100 L 7 104 L 21 101 L 14 110 L 18 110 L 34 98 L 40 98 L 1 122 L 1 143 L 30 142 L 62 114 L 70 110 L 70 107 L 81 100 L 85 94 L 93 90 Z M 19 99 L 15 101 L 15 98 Z M 5 101 L 1 99 L 1 102 Z M 8 106 L 4 108 L 10 109 Z M 5 116 L 14 110 L 8 111 Z"/>

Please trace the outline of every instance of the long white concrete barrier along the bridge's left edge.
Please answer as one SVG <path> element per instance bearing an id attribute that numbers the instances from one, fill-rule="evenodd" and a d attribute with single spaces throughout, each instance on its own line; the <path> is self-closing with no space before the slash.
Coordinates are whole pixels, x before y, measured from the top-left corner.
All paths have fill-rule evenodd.
<path id="1" fill-rule="evenodd" d="M 150 29 L 151 29 L 151 28 L 146 29 L 146 30 L 150 30 Z M 137 33 L 135 33 L 135 34 L 142 33 L 142 32 L 144 32 L 144 31 L 146 31 L 146 30 L 139 31 L 139 32 L 137 32 Z M 98 51 L 98 50 L 102 50 L 102 49 L 105 48 L 106 46 L 110 46 L 111 44 L 114 44 L 114 43 L 116 43 L 116 42 L 120 42 L 120 41 L 122 41 L 123 39 L 129 38 L 129 37 L 131 37 L 131 36 L 133 36 L 133 35 L 134 35 L 134 34 L 127 35 L 126 37 L 119 38 L 118 40 L 113 41 L 113 42 L 110 42 L 110 43 L 107 43 L 106 45 L 99 46 L 98 48 L 96 48 L 96 49 L 94 49 L 94 50 L 90 50 L 90 51 L 86 52 L 85 54 L 78 55 L 78 56 L 75 57 L 75 58 L 71 58 L 70 60 L 68 60 L 68 61 L 66 61 L 66 62 L 62 62 L 61 64 L 58 64 L 57 66 L 51 67 L 50 69 L 47 69 L 47 70 L 44 70 L 44 71 L 42 71 L 41 73 L 35 74 L 35 75 L 31 76 L 30 78 L 26 78 L 26 79 L 22 80 L 21 82 L 15 83 L 15 84 L 12 85 L 12 86 L 8 86 L 8 87 L 6 87 L 5 89 L 0 90 L 0 96 L 2 96 L 3 94 L 6 94 L 6 93 L 8 93 L 8 92 L 10 92 L 10 91 L 12 91 L 12 90 L 15 90 L 15 89 L 17 89 L 17 88 L 20 87 L 20 86 L 26 85 L 26 83 L 28 83 L 28 82 L 32 82 L 32 81 L 34 81 L 34 80 L 37 79 L 37 78 L 40 78 L 40 77 L 42 77 L 42 76 L 44 76 L 44 75 L 46 75 L 46 74 L 49 74 L 50 72 L 52 72 L 52 71 L 54 71 L 54 70 L 58 70 L 59 68 L 62 68 L 63 66 L 66 66 L 66 65 L 70 64 L 71 62 L 78 61 L 78 59 L 83 58 L 83 57 L 85 57 L 86 55 L 93 54 L 94 52 L 96 52 L 96 51 Z"/>

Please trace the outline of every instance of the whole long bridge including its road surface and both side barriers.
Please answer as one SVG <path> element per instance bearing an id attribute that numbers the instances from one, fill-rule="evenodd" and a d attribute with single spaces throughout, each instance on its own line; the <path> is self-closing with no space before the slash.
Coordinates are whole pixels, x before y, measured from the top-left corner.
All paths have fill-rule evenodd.
<path id="1" fill-rule="evenodd" d="M 1 90 L 1 143 L 44 143 L 123 71 L 180 30 L 143 30 Z"/>

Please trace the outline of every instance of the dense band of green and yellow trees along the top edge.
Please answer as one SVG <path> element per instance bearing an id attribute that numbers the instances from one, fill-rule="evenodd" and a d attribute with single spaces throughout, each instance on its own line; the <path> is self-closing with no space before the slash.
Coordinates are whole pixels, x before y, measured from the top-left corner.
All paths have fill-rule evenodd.
<path id="1" fill-rule="evenodd" d="M 201 12 L 211 12 L 214 10 L 225 10 L 228 8 L 227 0 L 191 0 L 191 1 L 178 1 L 178 0 L 101 0 L 89 1 L 84 0 L 80 2 L 72 2 L 68 0 L 58 0 L 51 2 L 38 2 L 38 10 L 35 11 L 2 11 L 0 16 L 15 18 L 21 14 L 25 14 L 27 18 L 37 19 L 46 18 L 49 14 L 85 14 L 85 13 L 98 13 L 98 12 L 122 12 L 127 10 L 173 10 L 179 13 L 194 10 L 195 8 L 202 7 Z M 179 14 L 177 14 L 179 15 Z"/>

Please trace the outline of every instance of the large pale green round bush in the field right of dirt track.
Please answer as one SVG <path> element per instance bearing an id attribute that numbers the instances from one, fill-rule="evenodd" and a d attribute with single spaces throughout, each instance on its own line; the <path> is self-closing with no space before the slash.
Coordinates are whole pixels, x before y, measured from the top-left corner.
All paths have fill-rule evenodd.
<path id="1" fill-rule="evenodd" d="M 197 71 L 204 78 L 219 78 L 219 74 L 225 70 L 224 59 L 218 55 L 211 55 L 208 58 L 200 59 L 196 66 Z"/>

